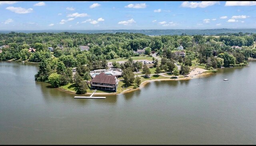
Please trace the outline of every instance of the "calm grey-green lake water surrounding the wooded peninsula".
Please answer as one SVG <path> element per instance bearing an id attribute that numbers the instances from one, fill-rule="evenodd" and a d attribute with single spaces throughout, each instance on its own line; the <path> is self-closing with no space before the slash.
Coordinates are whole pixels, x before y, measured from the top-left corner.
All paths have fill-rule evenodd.
<path id="1" fill-rule="evenodd" d="M 249 63 L 74 99 L 35 82 L 38 64 L 0 62 L 0 144 L 256 144 L 256 62 Z"/>

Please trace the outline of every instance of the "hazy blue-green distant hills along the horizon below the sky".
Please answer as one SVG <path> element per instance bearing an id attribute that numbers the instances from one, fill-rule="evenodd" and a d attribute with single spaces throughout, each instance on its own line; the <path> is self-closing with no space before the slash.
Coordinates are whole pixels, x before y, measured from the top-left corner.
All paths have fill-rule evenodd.
<path id="1" fill-rule="evenodd" d="M 8 30 L 0 30 L 0 33 L 9 33 Z M 23 33 L 40 33 L 40 32 L 77 32 L 83 34 L 96 34 L 96 33 L 116 33 L 116 32 L 128 32 L 128 33 L 141 33 L 149 36 L 161 36 L 161 35 L 181 35 L 182 33 L 186 35 L 205 35 L 205 36 L 214 36 L 222 33 L 256 33 L 256 29 L 177 29 L 177 30 L 16 30 L 13 32 L 23 32 Z"/>

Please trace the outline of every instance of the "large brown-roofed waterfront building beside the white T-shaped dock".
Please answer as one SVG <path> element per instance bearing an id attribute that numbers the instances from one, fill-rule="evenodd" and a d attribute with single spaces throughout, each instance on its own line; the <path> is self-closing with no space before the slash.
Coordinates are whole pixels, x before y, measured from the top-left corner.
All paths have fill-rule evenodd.
<path id="1" fill-rule="evenodd" d="M 102 89 L 102 90 L 110 90 L 117 91 L 118 80 L 116 76 L 106 75 L 104 72 L 97 74 L 90 81 L 91 88 L 94 89 Z"/>

